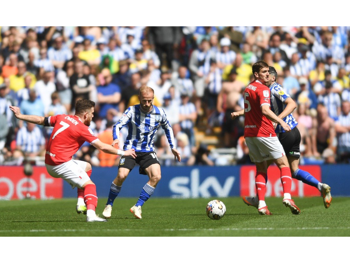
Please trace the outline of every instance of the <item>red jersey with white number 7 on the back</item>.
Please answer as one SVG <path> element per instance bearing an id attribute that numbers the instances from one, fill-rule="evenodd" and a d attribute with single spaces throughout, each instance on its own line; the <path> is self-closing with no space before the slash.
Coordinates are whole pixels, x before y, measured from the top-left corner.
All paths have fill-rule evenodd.
<path id="1" fill-rule="evenodd" d="M 49 125 L 54 130 L 46 147 L 45 163 L 52 166 L 71 160 L 85 141 L 90 144 L 98 141 L 93 131 L 77 116 L 50 116 Z"/>

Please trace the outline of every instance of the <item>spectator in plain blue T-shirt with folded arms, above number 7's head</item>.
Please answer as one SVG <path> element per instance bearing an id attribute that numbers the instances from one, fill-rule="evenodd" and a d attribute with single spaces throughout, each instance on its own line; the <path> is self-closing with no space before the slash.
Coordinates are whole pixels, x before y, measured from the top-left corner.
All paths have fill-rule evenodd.
<path id="1" fill-rule="evenodd" d="M 120 88 L 112 83 L 112 75 L 109 69 L 103 69 L 101 75 L 104 79 L 104 85 L 97 87 L 97 98 L 100 106 L 99 116 L 106 117 L 107 110 L 114 108 L 118 110 L 120 102 Z"/>

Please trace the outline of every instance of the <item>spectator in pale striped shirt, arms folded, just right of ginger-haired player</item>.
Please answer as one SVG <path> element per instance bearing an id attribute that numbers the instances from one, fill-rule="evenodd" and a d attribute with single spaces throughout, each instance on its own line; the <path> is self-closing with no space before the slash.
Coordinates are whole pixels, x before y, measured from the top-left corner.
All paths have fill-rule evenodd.
<path id="1" fill-rule="evenodd" d="M 181 92 L 181 105 L 179 107 L 179 111 L 181 131 L 187 134 L 190 141 L 190 145 L 194 146 L 195 137 L 193 127 L 197 119 L 197 112 L 194 104 L 190 102 L 190 97 L 186 90 L 183 90 Z"/>

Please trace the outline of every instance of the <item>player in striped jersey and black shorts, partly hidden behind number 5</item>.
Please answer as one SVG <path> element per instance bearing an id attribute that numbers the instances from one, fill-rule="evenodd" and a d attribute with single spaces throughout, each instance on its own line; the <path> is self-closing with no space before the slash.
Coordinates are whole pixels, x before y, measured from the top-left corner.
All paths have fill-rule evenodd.
<path id="1" fill-rule="evenodd" d="M 307 171 L 299 169 L 301 136 L 298 128 L 296 127 L 297 122 L 292 115 L 293 110 L 296 108 L 296 104 L 293 99 L 285 93 L 281 85 L 275 82 L 277 79 L 277 73 L 274 67 L 269 67 L 269 74 L 269 82 L 265 85 L 268 86 L 271 91 L 271 110 L 278 117 L 283 119 L 283 121 L 285 121 L 292 129 L 292 131 L 286 133 L 283 128 L 280 127 L 280 125 L 275 124 L 275 131 L 283 146 L 283 149 L 285 150 L 290 171 L 292 172 L 292 177 L 317 188 L 322 194 L 324 207 L 328 208 L 332 200 L 330 195 L 330 187 L 327 184 L 320 183 Z M 268 160 L 267 166 L 269 166 L 271 163 L 272 161 Z M 243 197 L 243 201 L 247 205 L 258 207 L 257 197 Z"/>

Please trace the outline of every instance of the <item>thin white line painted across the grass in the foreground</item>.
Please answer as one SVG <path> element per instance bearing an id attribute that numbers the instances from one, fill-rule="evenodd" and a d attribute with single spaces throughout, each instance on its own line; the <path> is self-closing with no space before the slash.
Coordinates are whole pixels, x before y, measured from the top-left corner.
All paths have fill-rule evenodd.
<path id="1" fill-rule="evenodd" d="M 169 228 L 169 229 L 99 229 L 106 232 L 120 231 L 246 231 L 246 230 L 328 230 L 328 229 L 350 229 L 350 227 L 290 227 L 290 228 Z M 0 230 L 0 233 L 9 232 L 95 232 L 95 229 L 30 229 L 30 230 Z"/>

